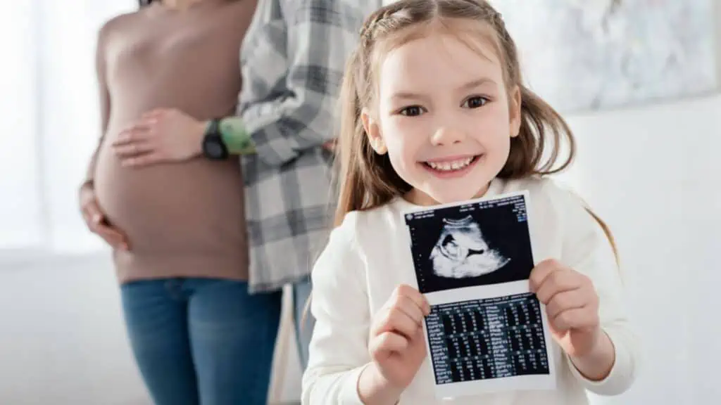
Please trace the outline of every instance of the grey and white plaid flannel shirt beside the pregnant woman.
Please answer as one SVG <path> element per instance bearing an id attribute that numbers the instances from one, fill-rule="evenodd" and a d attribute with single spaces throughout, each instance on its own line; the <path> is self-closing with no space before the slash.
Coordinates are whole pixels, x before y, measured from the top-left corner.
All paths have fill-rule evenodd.
<path id="1" fill-rule="evenodd" d="M 377 3 L 377 4 L 376 4 Z M 358 0 L 260 0 L 242 44 L 238 114 L 255 143 L 241 158 L 249 289 L 306 280 L 332 226 L 332 156 L 345 63 L 363 19 Z"/>

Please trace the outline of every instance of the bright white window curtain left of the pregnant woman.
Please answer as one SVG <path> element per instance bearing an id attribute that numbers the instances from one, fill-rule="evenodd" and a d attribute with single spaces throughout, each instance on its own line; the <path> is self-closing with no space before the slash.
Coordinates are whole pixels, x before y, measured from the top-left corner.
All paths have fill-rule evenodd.
<path id="1" fill-rule="evenodd" d="M 133 0 L 0 7 L 0 252 L 87 252 L 77 186 L 99 137 L 97 30 Z"/>

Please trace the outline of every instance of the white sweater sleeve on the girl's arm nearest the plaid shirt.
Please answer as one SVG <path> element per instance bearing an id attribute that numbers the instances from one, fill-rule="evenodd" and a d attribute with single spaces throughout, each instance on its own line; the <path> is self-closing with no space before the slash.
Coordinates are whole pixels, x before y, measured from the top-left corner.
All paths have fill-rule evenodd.
<path id="1" fill-rule="evenodd" d="M 303 375 L 304 405 L 362 405 L 358 377 L 371 362 L 371 314 L 364 260 L 355 241 L 357 215 L 332 231 L 312 272 L 315 317 L 309 364 Z"/>

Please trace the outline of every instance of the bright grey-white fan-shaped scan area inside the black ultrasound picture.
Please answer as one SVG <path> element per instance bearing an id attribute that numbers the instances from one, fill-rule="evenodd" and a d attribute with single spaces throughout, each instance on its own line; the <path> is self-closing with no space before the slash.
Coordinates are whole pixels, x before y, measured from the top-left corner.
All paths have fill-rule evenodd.
<path id="1" fill-rule="evenodd" d="M 461 219 L 443 218 L 441 236 L 430 252 L 433 272 L 439 277 L 478 277 L 510 262 L 497 249 L 490 248 L 472 215 Z"/>

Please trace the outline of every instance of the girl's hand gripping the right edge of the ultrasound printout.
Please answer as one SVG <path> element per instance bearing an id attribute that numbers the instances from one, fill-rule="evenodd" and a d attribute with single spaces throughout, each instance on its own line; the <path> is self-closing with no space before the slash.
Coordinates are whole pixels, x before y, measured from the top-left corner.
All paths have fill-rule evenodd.
<path id="1" fill-rule="evenodd" d="M 531 291 L 546 305 L 551 334 L 570 357 L 583 357 L 596 347 L 603 331 L 598 295 L 591 280 L 549 259 L 531 271 Z"/>

